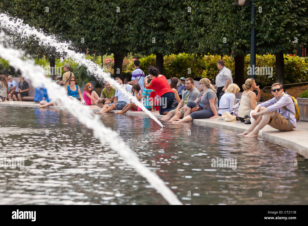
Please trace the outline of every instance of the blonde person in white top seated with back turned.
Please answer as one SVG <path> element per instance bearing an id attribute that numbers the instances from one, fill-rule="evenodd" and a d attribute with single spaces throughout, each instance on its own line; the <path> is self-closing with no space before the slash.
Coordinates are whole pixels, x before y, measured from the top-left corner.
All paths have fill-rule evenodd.
<path id="1" fill-rule="evenodd" d="M 221 96 L 219 101 L 218 115 L 223 115 L 226 111 L 231 112 L 233 108 L 238 108 L 236 105 L 235 95 L 240 91 L 240 87 L 236 84 L 231 84 L 225 91 L 225 94 Z"/>

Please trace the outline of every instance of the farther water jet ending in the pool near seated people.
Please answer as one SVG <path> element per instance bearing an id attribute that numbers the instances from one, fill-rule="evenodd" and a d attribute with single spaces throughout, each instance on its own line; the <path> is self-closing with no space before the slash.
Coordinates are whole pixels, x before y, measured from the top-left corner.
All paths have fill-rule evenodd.
<path id="1" fill-rule="evenodd" d="M 148 109 L 144 107 L 144 105 L 141 105 L 140 102 L 137 100 L 136 97 L 132 96 L 131 93 L 129 93 L 126 89 L 123 88 L 118 82 L 116 82 L 114 79 L 110 77 L 110 74 L 107 74 L 97 65 L 95 62 L 91 60 L 87 60 L 83 54 L 76 53 L 73 50 L 70 50 L 69 48 L 72 48 L 68 43 L 66 42 L 59 42 L 57 39 L 49 35 L 47 36 L 42 31 L 36 30 L 34 27 L 30 27 L 28 24 L 24 24 L 23 20 L 21 19 L 15 19 L 7 14 L 0 14 L 0 28 L 3 28 L 10 33 L 18 35 L 21 39 L 28 40 L 30 37 L 35 37 L 39 40 L 40 45 L 43 46 L 52 46 L 55 47 L 55 51 L 59 53 L 66 53 L 68 57 L 71 57 L 76 63 L 80 65 L 85 65 L 87 67 L 87 70 L 93 74 L 97 80 L 99 81 L 107 81 L 117 90 L 120 90 L 126 97 L 131 99 L 136 105 L 138 105 L 145 113 L 147 113 L 154 121 L 158 123 L 162 128 L 164 128 L 164 125 L 161 124 L 160 121 L 157 120 L 157 118 L 150 112 Z"/>

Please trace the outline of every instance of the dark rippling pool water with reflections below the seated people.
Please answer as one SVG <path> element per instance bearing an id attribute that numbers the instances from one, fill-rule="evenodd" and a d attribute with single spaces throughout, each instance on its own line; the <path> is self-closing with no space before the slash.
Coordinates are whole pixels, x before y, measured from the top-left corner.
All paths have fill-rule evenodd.
<path id="1" fill-rule="evenodd" d="M 0 160 L 25 160 L 24 169 L 0 166 L 0 204 L 168 204 L 66 111 L 0 112 Z M 308 161 L 290 149 L 190 123 L 160 129 L 150 118 L 111 113 L 101 120 L 184 204 L 308 204 Z M 236 159 L 236 170 L 212 167 L 217 157 Z"/>

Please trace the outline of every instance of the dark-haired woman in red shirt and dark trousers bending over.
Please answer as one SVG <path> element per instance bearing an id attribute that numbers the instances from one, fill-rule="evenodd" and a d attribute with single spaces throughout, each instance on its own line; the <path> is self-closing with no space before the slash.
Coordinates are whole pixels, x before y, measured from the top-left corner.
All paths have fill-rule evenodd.
<path id="1" fill-rule="evenodd" d="M 152 81 L 148 83 L 148 76 L 145 77 L 145 87 L 147 87 L 148 89 L 154 89 L 156 94 L 161 97 L 159 113 L 161 115 L 165 115 L 169 111 L 174 109 L 171 107 L 175 99 L 175 94 L 170 88 L 166 77 L 164 77 L 164 75 L 162 74 L 159 74 L 159 71 L 154 66 L 148 66 L 148 73 L 150 74 L 150 79 Z"/>

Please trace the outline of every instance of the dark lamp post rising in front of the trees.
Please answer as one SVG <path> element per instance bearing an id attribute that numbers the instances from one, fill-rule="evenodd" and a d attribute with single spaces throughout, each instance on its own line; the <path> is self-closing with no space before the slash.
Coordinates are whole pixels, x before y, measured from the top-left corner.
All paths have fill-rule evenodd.
<path id="1" fill-rule="evenodd" d="M 253 78 L 256 80 L 255 75 L 255 67 L 256 67 L 256 29 L 254 28 L 254 0 L 251 1 L 251 4 L 249 3 L 250 0 L 235 0 L 234 5 L 235 6 L 251 6 L 251 22 L 253 26 L 251 27 L 251 36 L 250 36 L 250 68 L 251 68 L 251 74 L 250 78 Z"/>

